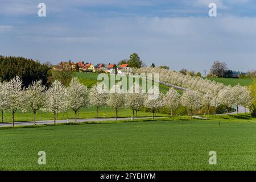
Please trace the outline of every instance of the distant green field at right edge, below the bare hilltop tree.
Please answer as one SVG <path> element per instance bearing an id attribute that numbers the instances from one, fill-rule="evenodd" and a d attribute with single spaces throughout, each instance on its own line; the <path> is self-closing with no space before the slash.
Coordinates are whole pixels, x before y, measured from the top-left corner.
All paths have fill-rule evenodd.
<path id="1" fill-rule="evenodd" d="M 207 78 L 209 80 L 214 80 L 216 82 L 221 82 L 224 85 L 235 86 L 240 84 L 242 86 L 249 86 L 254 83 L 253 79 L 245 78 L 245 79 L 237 79 L 237 78 Z"/>

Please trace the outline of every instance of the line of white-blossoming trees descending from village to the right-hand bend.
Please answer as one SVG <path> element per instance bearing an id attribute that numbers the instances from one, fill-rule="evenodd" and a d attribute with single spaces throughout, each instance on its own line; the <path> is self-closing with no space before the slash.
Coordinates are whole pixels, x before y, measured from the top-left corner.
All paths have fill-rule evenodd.
<path id="1" fill-rule="evenodd" d="M 202 106 L 207 106 L 209 114 L 210 106 L 218 107 L 219 105 L 223 105 L 226 107 L 227 111 L 229 107 L 236 106 L 238 113 L 238 106 L 244 106 L 246 111 L 246 106 L 253 100 L 249 89 L 240 84 L 232 88 L 220 82 L 210 81 L 201 77 L 183 75 L 180 72 L 159 67 L 142 67 L 133 69 L 133 72 L 138 74 L 143 73 L 145 75 L 148 73 L 158 73 L 160 82 L 167 82 L 188 89 L 187 92 L 183 94 L 181 104 L 188 107 L 188 109 L 190 108 L 189 110 L 200 109 Z"/>

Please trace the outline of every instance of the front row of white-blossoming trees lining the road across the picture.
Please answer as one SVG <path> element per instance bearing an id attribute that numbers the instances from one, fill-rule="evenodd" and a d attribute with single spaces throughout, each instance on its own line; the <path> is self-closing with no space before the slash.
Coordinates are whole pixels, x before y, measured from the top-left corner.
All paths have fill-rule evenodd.
<path id="1" fill-rule="evenodd" d="M 187 89 L 182 96 L 175 89 L 170 89 L 166 94 L 158 93 L 158 89 L 152 88 L 146 93 L 136 82 L 130 86 L 128 92 L 121 89 L 121 82 L 110 88 L 110 92 L 104 88 L 103 84 L 96 84 L 90 90 L 81 84 L 75 77 L 72 78 L 68 87 L 56 80 L 49 88 L 42 85 L 42 81 L 34 81 L 28 88 L 22 88 L 22 81 L 15 77 L 9 82 L 0 82 L 0 111 L 10 111 L 13 116 L 16 110 L 34 113 L 34 122 L 36 122 L 36 113 L 38 110 L 47 111 L 53 114 L 54 123 L 56 123 L 56 114 L 72 109 L 75 113 L 75 122 L 77 122 L 77 111 L 81 107 L 95 106 L 98 110 L 101 106 L 108 105 L 115 110 L 115 119 L 118 117 L 118 110 L 129 108 L 138 111 L 142 107 L 150 109 L 152 118 L 156 110 L 166 106 L 171 115 L 180 105 L 187 107 L 189 115 L 192 117 L 194 110 L 200 110 L 207 106 L 208 114 L 210 107 L 223 105 L 227 108 L 236 106 L 247 106 L 251 102 L 251 93 L 246 86 L 237 85 L 234 87 L 224 86 L 218 92 L 216 89 L 209 89 L 207 92 L 200 92 L 195 89 Z M 152 97 L 157 96 L 157 97 Z"/>

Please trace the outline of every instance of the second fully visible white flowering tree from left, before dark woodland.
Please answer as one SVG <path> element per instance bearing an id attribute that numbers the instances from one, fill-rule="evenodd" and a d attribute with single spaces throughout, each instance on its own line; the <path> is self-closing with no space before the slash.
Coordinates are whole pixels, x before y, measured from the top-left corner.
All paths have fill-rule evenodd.
<path id="1" fill-rule="evenodd" d="M 42 80 L 32 82 L 25 90 L 26 105 L 34 113 L 34 125 L 36 125 L 36 113 L 42 109 L 46 101 L 45 90 L 46 86 L 42 85 Z"/>

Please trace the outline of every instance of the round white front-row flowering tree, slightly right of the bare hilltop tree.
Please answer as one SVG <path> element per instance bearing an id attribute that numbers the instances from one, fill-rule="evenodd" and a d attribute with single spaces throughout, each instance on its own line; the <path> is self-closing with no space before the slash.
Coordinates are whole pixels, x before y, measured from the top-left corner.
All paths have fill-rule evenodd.
<path id="1" fill-rule="evenodd" d="M 229 108 L 236 104 L 236 98 L 234 97 L 234 92 L 230 85 L 218 92 L 218 100 L 220 101 L 220 104 L 226 107 L 227 114 L 229 115 Z"/>

